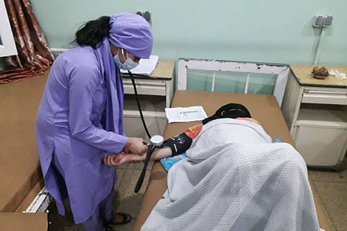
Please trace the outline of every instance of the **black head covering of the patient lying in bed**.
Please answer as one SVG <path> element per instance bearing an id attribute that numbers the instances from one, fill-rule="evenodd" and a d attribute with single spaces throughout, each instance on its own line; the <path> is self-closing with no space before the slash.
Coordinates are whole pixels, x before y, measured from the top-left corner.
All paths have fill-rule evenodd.
<path id="1" fill-rule="evenodd" d="M 211 117 L 204 119 L 203 124 L 206 124 L 214 119 L 236 119 L 239 117 L 252 118 L 251 113 L 248 112 L 248 109 L 244 105 L 238 103 L 229 103 L 219 108 L 219 110 L 217 110 L 217 112 Z"/>

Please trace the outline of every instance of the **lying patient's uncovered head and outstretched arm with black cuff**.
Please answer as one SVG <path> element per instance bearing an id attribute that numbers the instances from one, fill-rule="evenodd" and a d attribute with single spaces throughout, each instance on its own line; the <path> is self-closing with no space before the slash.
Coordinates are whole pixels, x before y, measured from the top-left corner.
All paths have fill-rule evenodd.
<path id="1" fill-rule="evenodd" d="M 189 149 L 190 145 L 192 144 L 192 140 L 198 136 L 198 134 L 201 132 L 201 129 L 206 123 L 215 119 L 226 118 L 249 121 L 251 123 L 256 123 L 260 125 L 258 121 L 251 118 L 250 112 L 244 105 L 237 103 L 229 103 L 219 108 L 219 110 L 217 110 L 217 112 L 214 115 L 212 115 L 212 117 L 204 119 L 203 123 L 188 128 L 185 132 L 183 132 L 180 135 L 177 135 L 176 137 L 171 137 L 170 139 L 167 139 L 165 141 L 167 146 L 164 146 L 163 148 L 158 148 L 151 155 L 151 160 L 160 160 L 162 158 L 184 153 L 185 151 L 187 151 L 187 149 Z M 146 154 L 132 155 L 122 152 L 117 155 L 108 155 L 104 157 L 104 162 L 105 164 L 110 166 L 119 166 L 126 162 L 142 162 L 145 159 Z"/>

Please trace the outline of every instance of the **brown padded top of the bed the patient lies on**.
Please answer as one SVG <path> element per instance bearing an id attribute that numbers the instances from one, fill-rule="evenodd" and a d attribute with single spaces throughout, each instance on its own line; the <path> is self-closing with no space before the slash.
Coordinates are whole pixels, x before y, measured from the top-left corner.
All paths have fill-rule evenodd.
<path id="1" fill-rule="evenodd" d="M 272 137 L 272 139 L 280 139 L 282 142 L 289 143 L 294 146 L 294 141 L 291 139 L 287 124 L 282 116 L 282 112 L 278 106 L 274 96 L 266 96 L 260 94 L 231 94 L 220 92 L 192 92 L 192 91 L 177 91 L 172 101 L 172 108 L 189 107 L 202 105 L 208 116 L 227 103 L 241 103 L 248 108 L 254 119 L 257 119 L 262 124 L 264 130 Z M 178 135 L 184 132 L 190 126 L 200 123 L 170 123 L 164 130 L 165 139 Z M 140 230 L 147 217 L 155 207 L 158 200 L 162 198 L 164 191 L 167 190 L 167 172 L 164 170 L 160 162 L 155 162 L 149 185 L 139 210 L 134 230 Z M 316 190 L 312 189 L 316 208 L 319 215 L 321 228 L 330 230 L 328 221 L 325 218 L 325 212 L 322 209 L 321 201 L 316 194 Z"/>

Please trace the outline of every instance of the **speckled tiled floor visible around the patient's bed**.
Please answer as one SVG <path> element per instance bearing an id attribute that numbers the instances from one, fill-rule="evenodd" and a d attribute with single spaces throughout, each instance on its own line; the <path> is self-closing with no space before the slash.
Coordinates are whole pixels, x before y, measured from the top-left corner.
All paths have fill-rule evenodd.
<path id="1" fill-rule="evenodd" d="M 146 179 L 139 194 L 134 194 L 133 190 L 137 178 L 141 173 L 143 164 L 126 164 L 118 169 L 118 183 L 115 186 L 117 211 L 129 212 L 133 215 L 133 221 L 127 225 L 117 226 L 117 230 L 128 231 L 133 229 L 142 203 L 144 191 L 148 183 L 149 169 L 146 172 Z M 319 196 L 323 200 L 325 212 L 330 223 L 330 228 L 337 231 L 347 230 L 347 159 L 339 172 L 333 171 L 309 171 L 310 178 L 314 183 Z M 74 225 L 71 211 L 67 211 L 67 216 L 59 216 L 54 203 L 49 207 L 49 230 L 50 231 L 82 231 L 81 225 Z"/>

